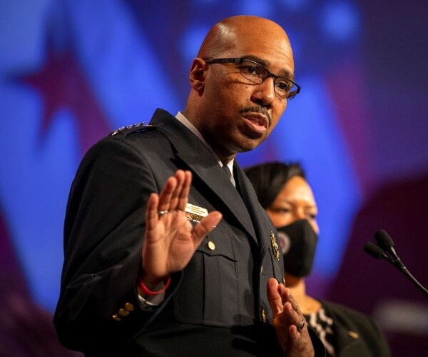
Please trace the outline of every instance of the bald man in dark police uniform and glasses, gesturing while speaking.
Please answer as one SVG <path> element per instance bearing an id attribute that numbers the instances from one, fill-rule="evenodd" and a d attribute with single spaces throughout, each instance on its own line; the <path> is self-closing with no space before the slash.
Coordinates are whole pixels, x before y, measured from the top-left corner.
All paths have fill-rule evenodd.
<path id="1" fill-rule="evenodd" d="M 323 353 L 278 284 L 275 228 L 234 160 L 298 93 L 293 72 L 280 26 L 225 19 L 193 60 L 183 112 L 158 109 L 148 126 L 88 151 L 64 228 L 54 319 L 64 346 L 87 356 Z"/>

